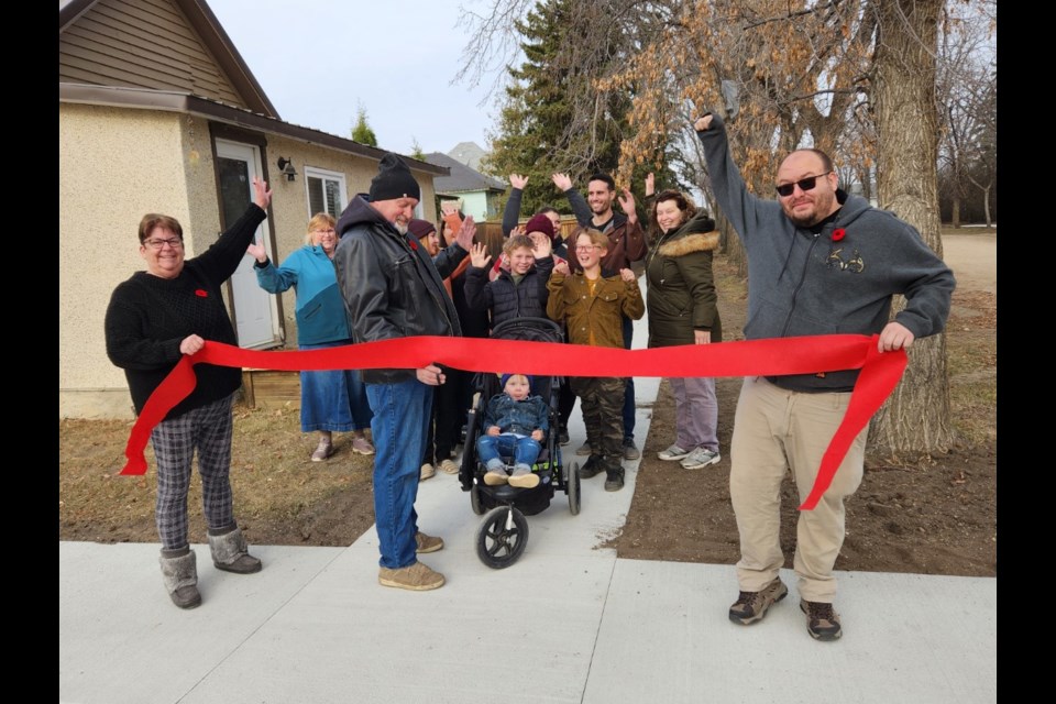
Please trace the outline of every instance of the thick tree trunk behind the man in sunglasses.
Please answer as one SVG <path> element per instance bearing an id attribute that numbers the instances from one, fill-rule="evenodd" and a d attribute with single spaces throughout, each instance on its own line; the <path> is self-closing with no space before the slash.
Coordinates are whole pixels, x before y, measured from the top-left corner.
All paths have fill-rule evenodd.
<path id="1" fill-rule="evenodd" d="M 879 135 L 880 207 L 914 226 L 942 256 L 935 52 L 943 0 L 877 0 L 872 102 Z M 897 296 L 894 311 L 905 300 Z M 872 422 L 872 443 L 890 453 L 945 452 L 952 441 L 946 339 L 914 342 L 902 383 Z"/>

